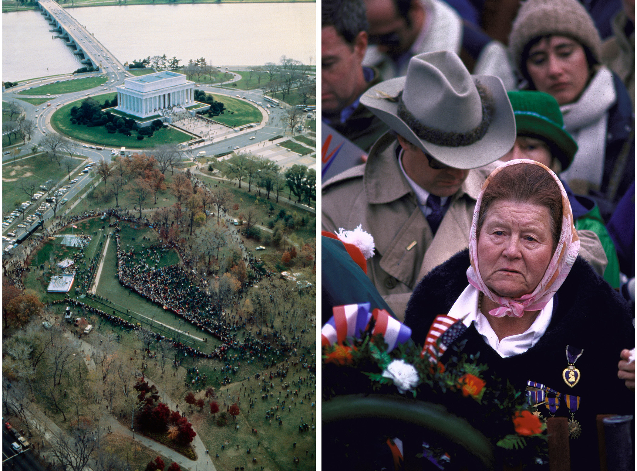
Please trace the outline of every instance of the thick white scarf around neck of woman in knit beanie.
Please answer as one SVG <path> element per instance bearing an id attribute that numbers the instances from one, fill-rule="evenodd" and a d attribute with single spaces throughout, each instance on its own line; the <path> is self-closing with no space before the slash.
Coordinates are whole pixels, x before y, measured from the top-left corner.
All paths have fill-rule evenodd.
<path id="1" fill-rule="evenodd" d="M 601 67 L 578 101 L 560 106 L 564 129 L 573 136 L 578 146 L 573 163 L 560 177 L 575 192 L 587 194 L 587 189 L 598 190 L 601 187 L 608 108 L 616 100 L 613 75 L 610 70 Z"/>

